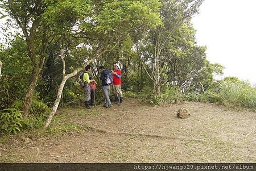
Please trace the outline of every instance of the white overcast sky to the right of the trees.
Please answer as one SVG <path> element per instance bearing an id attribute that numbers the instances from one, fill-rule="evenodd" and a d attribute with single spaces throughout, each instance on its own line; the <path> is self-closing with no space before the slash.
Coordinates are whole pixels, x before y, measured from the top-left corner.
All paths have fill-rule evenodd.
<path id="1" fill-rule="evenodd" d="M 205 0 L 192 19 L 207 59 L 225 66 L 221 78 L 235 76 L 256 85 L 255 8 L 256 0 Z"/>

